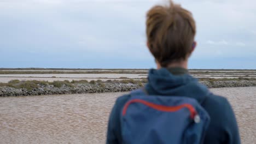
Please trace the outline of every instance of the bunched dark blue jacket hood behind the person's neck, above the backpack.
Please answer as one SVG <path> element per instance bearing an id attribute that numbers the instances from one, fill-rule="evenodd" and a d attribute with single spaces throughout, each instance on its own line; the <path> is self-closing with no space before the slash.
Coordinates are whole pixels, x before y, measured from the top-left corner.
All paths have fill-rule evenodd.
<path id="1" fill-rule="evenodd" d="M 150 69 L 146 90 L 150 95 L 194 98 L 199 103 L 211 94 L 208 88 L 189 74 L 173 75 L 166 68 Z"/>

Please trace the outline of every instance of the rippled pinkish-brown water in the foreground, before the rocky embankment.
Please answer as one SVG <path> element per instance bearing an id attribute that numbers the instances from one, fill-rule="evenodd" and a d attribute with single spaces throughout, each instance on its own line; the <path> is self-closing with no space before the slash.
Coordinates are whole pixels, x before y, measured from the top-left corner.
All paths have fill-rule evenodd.
<path id="1" fill-rule="evenodd" d="M 242 143 L 256 141 L 256 87 L 215 88 L 236 113 Z M 125 93 L 0 98 L 0 143 L 104 143 L 109 112 Z"/>

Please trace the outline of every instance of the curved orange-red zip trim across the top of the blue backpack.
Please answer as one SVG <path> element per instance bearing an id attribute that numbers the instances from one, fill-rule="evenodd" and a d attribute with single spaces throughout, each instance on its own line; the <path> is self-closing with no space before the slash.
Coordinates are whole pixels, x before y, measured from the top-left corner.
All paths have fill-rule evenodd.
<path id="1" fill-rule="evenodd" d="M 128 106 L 132 103 L 141 103 L 141 104 L 147 105 L 155 110 L 164 111 L 164 112 L 174 112 L 174 111 L 178 111 L 184 107 L 187 107 L 188 110 L 190 111 L 190 117 L 193 119 L 194 119 L 195 115 L 197 114 L 194 107 L 190 104 L 182 104 L 182 105 L 178 105 L 178 106 L 164 106 L 164 105 L 157 105 L 157 104 L 149 103 L 148 101 L 141 100 L 141 99 L 133 99 L 125 104 L 124 109 L 123 109 L 123 116 L 125 116 Z"/>

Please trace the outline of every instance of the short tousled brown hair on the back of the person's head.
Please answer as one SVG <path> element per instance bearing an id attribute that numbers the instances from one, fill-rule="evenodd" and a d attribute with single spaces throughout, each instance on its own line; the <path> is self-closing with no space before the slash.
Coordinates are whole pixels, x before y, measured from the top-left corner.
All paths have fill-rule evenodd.
<path id="1" fill-rule="evenodd" d="M 148 47 L 161 67 L 183 61 L 193 51 L 196 34 L 190 11 L 174 4 L 156 5 L 147 13 Z"/>

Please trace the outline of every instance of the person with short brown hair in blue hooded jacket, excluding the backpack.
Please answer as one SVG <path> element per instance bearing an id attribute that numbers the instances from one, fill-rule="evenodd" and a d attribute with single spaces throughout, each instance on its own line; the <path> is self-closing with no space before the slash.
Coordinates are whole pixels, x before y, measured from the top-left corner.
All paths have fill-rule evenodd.
<path id="1" fill-rule="evenodd" d="M 236 118 L 228 100 L 212 94 L 189 75 L 188 59 L 196 46 L 196 25 L 191 13 L 173 2 L 168 6 L 156 5 L 148 11 L 146 25 L 148 49 L 157 65 L 157 69 L 149 70 L 144 87 L 147 97 L 193 98 L 211 118 L 203 143 L 240 143 Z M 131 97 L 128 94 L 117 99 L 109 117 L 107 143 L 124 142 L 120 117 Z"/>

